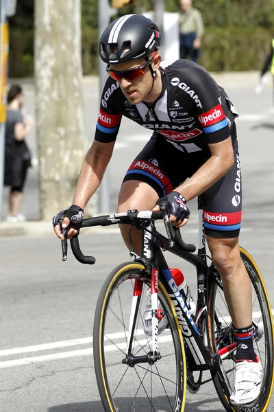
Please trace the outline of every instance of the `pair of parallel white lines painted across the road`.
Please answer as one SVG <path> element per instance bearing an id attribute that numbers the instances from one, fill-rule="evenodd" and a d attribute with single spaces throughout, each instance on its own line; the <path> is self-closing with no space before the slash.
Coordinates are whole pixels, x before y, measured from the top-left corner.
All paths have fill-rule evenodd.
<path id="1" fill-rule="evenodd" d="M 274 308 L 272 309 L 272 313 L 274 314 Z M 256 319 L 256 317 L 260 317 L 260 312 L 254 312 L 253 313 L 253 318 Z M 231 319 L 229 316 L 223 317 L 223 321 L 225 322 L 230 322 Z M 262 326 L 260 324 L 260 326 Z M 136 336 L 140 336 L 144 334 L 142 329 L 137 330 Z M 115 341 L 117 339 L 123 339 L 125 338 L 125 335 L 127 336 L 127 333 L 125 332 L 115 332 L 112 334 L 109 334 L 108 337 L 105 338 L 105 341 L 110 344 L 105 345 L 105 351 L 106 352 L 114 352 L 118 348 L 121 350 L 125 350 L 127 347 L 127 344 L 125 342 L 123 343 L 111 343 L 112 341 Z M 54 350 L 58 349 L 60 347 L 71 347 L 71 346 L 76 346 L 76 345 L 86 345 L 88 343 L 92 343 L 93 338 L 92 336 L 87 337 L 87 338 L 80 338 L 80 339 L 70 339 L 69 341 L 60 341 L 60 342 L 51 342 L 51 343 L 44 343 L 41 345 L 32 345 L 32 346 L 26 346 L 26 347 L 16 347 L 12 349 L 7 349 L 7 350 L 1 350 L 0 351 L 0 356 L 12 356 L 15 354 L 26 354 L 26 353 L 31 353 L 31 352 L 40 352 L 43 350 Z M 159 342 L 164 343 L 171 341 L 171 336 L 164 336 L 162 334 L 159 336 Z M 147 343 L 147 339 L 141 339 L 138 341 L 138 345 L 145 345 Z M 67 352 L 60 352 L 57 354 L 47 354 L 47 355 L 42 355 L 42 356 L 31 356 L 27 358 L 19 358 L 19 359 L 13 359 L 11 361 L 2 361 L 0 362 L 0 369 L 5 369 L 8 367 L 17 367 L 17 366 L 24 366 L 24 365 L 32 365 L 32 363 L 44 363 L 44 362 L 49 362 L 49 361 L 58 361 L 61 359 L 66 359 L 66 358 L 75 358 L 79 356 L 90 356 L 93 354 L 92 347 L 88 347 L 86 349 L 80 349 L 80 350 L 73 350 L 73 351 L 67 351 Z"/>

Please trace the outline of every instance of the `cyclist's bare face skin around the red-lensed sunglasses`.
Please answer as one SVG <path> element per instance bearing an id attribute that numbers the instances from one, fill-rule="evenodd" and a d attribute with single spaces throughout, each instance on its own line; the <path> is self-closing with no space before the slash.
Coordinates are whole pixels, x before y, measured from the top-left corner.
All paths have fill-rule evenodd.
<path id="1" fill-rule="evenodd" d="M 134 69 L 135 67 L 140 67 L 140 65 L 145 64 L 144 58 L 139 58 L 136 60 L 131 60 L 129 62 L 124 62 L 119 65 L 110 65 L 110 69 L 114 71 L 126 71 L 129 69 Z M 134 80 L 127 80 L 122 78 L 119 81 L 119 86 L 121 91 L 131 104 L 138 104 L 145 99 L 145 97 L 151 91 L 153 84 L 153 79 L 149 67 L 145 67 L 145 72 Z"/>

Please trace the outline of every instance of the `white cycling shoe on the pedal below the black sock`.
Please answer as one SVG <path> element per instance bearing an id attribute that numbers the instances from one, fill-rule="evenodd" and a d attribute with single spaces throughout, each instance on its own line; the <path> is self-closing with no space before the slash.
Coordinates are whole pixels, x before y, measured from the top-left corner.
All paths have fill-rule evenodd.
<path id="1" fill-rule="evenodd" d="M 236 405 L 248 404 L 258 398 L 262 382 L 260 361 L 240 361 L 236 363 L 235 387 L 230 402 Z"/>

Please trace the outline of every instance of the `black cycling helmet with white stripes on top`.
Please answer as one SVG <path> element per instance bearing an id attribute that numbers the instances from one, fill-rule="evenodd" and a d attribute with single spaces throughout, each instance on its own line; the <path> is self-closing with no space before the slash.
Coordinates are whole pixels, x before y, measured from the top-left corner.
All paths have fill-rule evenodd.
<path id="1" fill-rule="evenodd" d="M 115 65 L 147 57 L 160 47 L 160 33 L 151 19 L 142 14 L 127 14 L 108 25 L 99 41 L 103 62 Z"/>

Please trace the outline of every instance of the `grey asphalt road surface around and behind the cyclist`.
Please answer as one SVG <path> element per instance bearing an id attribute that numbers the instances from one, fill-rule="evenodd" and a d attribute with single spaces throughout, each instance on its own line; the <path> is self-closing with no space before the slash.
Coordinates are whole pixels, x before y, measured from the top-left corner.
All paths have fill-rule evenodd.
<path id="1" fill-rule="evenodd" d="M 273 104 L 271 87 L 253 92 L 254 78 L 236 82 L 227 78 L 226 89 L 241 117 L 238 138 L 244 190 L 240 244 L 256 260 L 274 309 L 273 284 Z M 33 89 L 25 87 L 29 113 Z M 96 121 L 96 84 L 86 82 L 86 128 L 89 139 Z M 111 208 L 123 174 L 145 141 L 144 130 L 123 122 L 119 145 L 110 164 Z M 146 134 L 147 135 L 147 134 Z M 34 135 L 29 137 L 34 156 Z M 125 161 L 127 159 L 127 161 Z M 197 242 L 195 202 L 184 238 Z M 29 176 L 23 212 L 38 218 L 37 169 Z M 92 326 L 95 304 L 105 277 L 129 260 L 116 229 L 85 235 L 84 253 L 97 258 L 95 266 L 61 261 L 60 243 L 47 236 L 0 238 L 0 411 L 1 412 L 103 412 L 92 359 Z M 184 271 L 191 290 L 195 273 L 189 264 L 169 258 Z M 214 387 L 208 383 L 195 395 L 188 393 L 186 411 L 223 411 Z M 274 412 L 272 397 L 269 412 Z"/>

